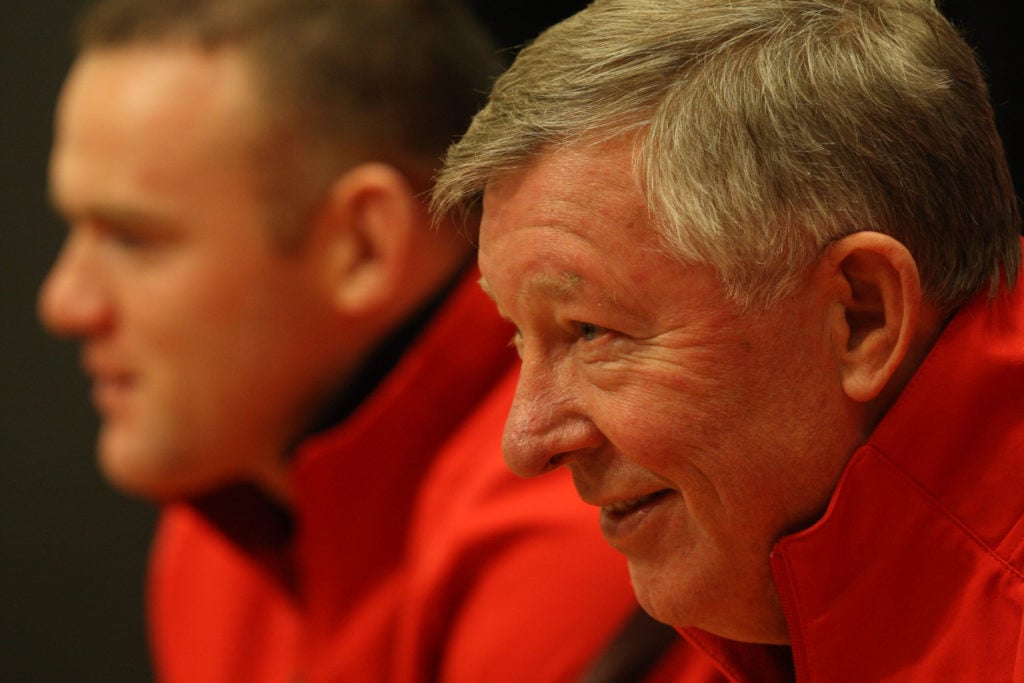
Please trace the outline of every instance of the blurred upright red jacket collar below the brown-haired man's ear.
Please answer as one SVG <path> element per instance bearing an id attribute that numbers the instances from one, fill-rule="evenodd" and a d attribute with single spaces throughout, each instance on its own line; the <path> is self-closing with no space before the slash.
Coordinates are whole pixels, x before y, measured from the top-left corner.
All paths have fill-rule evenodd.
<path id="1" fill-rule="evenodd" d="M 335 621 L 398 562 L 435 452 L 514 362 L 511 328 L 478 278 L 471 268 L 344 423 L 296 452 L 295 564 L 314 623 Z"/>

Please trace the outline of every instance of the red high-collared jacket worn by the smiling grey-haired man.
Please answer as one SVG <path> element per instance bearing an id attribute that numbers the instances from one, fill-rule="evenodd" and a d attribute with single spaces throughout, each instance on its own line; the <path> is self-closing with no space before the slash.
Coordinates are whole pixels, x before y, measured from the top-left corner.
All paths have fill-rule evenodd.
<path id="1" fill-rule="evenodd" d="M 684 632 L 731 680 L 1024 682 L 1024 286 L 955 315 L 771 563 L 792 660 Z"/>

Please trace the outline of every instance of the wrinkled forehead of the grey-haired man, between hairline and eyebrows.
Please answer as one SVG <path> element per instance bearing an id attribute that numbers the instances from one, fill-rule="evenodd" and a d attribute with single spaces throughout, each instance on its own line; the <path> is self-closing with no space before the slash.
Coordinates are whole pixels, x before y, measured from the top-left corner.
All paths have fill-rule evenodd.
<path id="1" fill-rule="evenodd" d="M 552 154 L 488 185 L 479 263 L 486 290 L 528 287 L 549 301 L 579 296 L 601 276 L 626 292 L 671 260 L 632 174 L 628 148 Z"/>

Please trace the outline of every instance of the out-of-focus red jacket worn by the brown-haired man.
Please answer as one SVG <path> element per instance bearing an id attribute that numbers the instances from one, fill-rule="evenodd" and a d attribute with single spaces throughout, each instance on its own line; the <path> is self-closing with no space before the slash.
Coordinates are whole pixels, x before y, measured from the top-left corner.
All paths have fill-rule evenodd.
<path id="1" fill-rule="evenodd" d="M 505 468 L 511 332 L 473 280 L 301 444 L 293 516 L 244 489 L 167 509 L 161 681 L 569 681 L 611 638 L 635 605 L 625 562 L 565 476 Z"/>

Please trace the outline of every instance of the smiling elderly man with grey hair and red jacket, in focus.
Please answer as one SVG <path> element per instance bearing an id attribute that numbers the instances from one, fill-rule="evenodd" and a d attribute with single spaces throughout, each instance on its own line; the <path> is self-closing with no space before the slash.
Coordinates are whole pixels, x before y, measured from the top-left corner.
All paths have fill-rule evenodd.
<path id="1" fill-rule="evenodd" d="M 564 465 L 730 680 L 1024 680 L 1020 218 L 930 0 L 598 0 L 450 150 Z M 795 673 L 794 673 L 795 671 Z"/>

